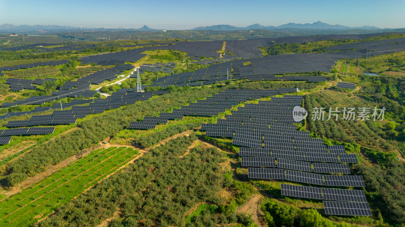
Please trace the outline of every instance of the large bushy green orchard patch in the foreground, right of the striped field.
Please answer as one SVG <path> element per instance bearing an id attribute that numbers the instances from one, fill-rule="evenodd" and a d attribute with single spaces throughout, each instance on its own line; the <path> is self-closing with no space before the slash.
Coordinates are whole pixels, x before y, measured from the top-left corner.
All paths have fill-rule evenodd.
<path id="1" fill-rule="evenodd" d="M 62 206 L 38 226 L 94 226 L 112 216 L 111 226 L 184 225 L 185 213 L 198 202 L 218 204 L 224 184 L 216 148 L 194 148 L 197 138 L 179 137 L 152 149 L 135 164 L 112 175 L 86 194 Z"/>

